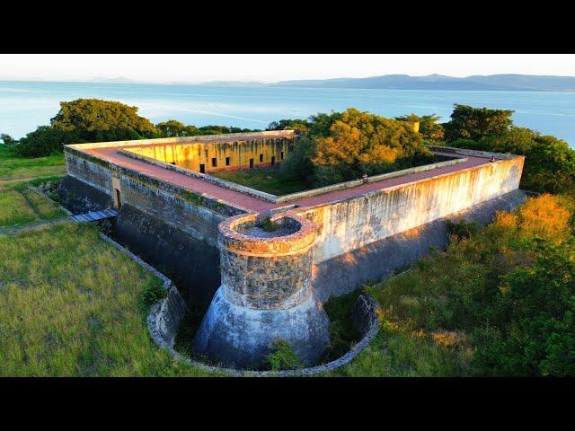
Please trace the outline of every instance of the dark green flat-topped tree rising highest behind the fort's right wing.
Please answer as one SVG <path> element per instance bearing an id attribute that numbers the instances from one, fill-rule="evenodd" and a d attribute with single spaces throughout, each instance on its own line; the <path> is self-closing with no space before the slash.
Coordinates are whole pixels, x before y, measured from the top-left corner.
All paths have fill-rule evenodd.
<path id="1" fill-rule="evenodd" d="M 490 110 L 456 104 L 451 120 L 443 125 L 447 142 L 500 136 L 513 124 L 513 110 Z"/>

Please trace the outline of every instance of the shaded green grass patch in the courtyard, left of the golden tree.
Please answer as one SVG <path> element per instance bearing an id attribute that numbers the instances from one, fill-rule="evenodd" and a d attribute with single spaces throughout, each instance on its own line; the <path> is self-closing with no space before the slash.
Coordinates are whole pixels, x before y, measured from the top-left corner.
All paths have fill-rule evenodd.
<path id="1" fill-rule="evenodd" d="M 210 172 L 210 175 L 276 196 L 309 189 L 301 180 L 280 172 L 278 166 L 241 171 Z"/>

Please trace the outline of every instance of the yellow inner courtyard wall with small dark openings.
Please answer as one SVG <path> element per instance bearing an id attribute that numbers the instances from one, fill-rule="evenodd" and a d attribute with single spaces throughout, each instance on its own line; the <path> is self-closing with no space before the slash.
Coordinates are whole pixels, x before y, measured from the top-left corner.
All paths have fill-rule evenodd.
<path id="1" fill-rule="evenodd" d="M 253 159 L 254 166 L 270 164 L 273 156 L 275 163 L 281 163 L 288 157 L 290 144 L 289 139 L 272 138 L 229 143 L 146 145 L 127 150 L 195 172 L 199 172 L 199 165 L 204 164 L 205 172 L 214 172 L 247 167 L 250 165 L 250 159 Z M 263 154 L 262 162 L 260 154 Z M 229 165 L 226 165 L 226 157 L 229 157 Z M 212 159 L 216 159 L 217 166 L 213 166 Z"/>

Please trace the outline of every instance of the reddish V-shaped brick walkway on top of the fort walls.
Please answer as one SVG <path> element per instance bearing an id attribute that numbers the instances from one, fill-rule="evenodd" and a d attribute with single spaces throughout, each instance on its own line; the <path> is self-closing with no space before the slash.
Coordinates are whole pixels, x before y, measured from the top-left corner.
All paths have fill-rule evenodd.
<path id="1" fill-rule="evenodd" d="M 313 207 L 335 200 L 351 198 L 353 196 L 365 194 L 370 191 L 392 188 L 394 186 L 407 184 L 412 181 L 425 180 L 427 178 L 435 177 L 438 175 L 464 171 L 465 169 L 490 163 L 489 159 L 486 157 L 466 156 L 467 161 L 464 163 L 458 163 L 430 171 L 415 172 L 402 177 L 381 180 L 349 189 L 336 190 L 311 198 L 300 198 L 286 203 L 274 204 L 258 198 L 252 198 L 251 196 L 245 195 L 239 191 L 226 189 L 215 184 L 211 184 L 207 181 L 200 180 L 198 178 L 192 178 L 178 172 L 170 171 L 159 166 L 155 166 L 154 164 L 149 164 L 129 158 L 125 155 L 119 154 L 118 150 L 119 148 L 93 148 L 86 151 L 119 166 L 137 170 L 138 172 L 142 172 L 158 180 L 164 180 L 177 186 L 190 189 L 195 193 L 206 194 L 211 198 L 219 198 L 229 202 L 230 204 L 233 204 L 235 207 L 241 207 L 243 209 L 255 212 L 265 212 L 275 207 L 285 207 L 286 205 L 291 204 L 296 204 L 299 207 Z"/>

